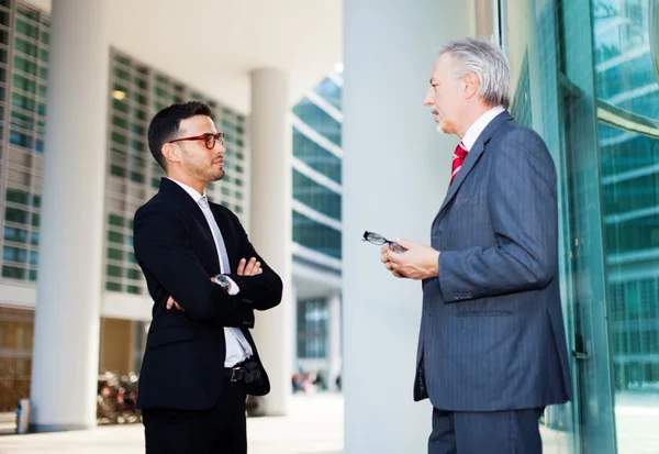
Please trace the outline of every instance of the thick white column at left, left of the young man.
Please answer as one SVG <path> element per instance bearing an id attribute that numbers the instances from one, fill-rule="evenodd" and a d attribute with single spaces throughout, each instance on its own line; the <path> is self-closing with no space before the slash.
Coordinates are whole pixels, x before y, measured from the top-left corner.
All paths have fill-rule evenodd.
<path id="1" fill-rule="evenodd" d="M 105 0 L 55 0 L 31 420 L 96 425 L 110 48 Z"/>

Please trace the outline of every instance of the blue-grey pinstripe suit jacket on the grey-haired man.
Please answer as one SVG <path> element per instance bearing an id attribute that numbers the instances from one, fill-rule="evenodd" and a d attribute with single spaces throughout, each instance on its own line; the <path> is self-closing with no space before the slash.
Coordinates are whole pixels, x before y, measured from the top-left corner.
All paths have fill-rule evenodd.
<path id="1" fill-rule="evenodd" d="M 432 226 L 414 398 L 454 411 L 571 398 L 558 277 L 556 169 L 543 140 L 499 114 Z"/>

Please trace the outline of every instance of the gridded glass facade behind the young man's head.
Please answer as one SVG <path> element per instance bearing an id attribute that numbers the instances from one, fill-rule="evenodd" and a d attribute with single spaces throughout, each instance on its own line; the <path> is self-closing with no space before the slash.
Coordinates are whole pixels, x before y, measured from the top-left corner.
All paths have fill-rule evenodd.
<path id="1" fill-rule="evenodd" d="M 146 295 L 133 254 L 133 215 L 158 190 L 165 176 L 146 142 L 148 122 L 160 109 L 190 100 L 206 102 L 219 131 L 225 133 L 226 176 L 206 186 L 211 200 L 232 209 L 245 223 L 248 152 L 245 117 L 208 96 L 113 51 L 109 96 L 108 180 L 105 190 L 105 289 Z"/>

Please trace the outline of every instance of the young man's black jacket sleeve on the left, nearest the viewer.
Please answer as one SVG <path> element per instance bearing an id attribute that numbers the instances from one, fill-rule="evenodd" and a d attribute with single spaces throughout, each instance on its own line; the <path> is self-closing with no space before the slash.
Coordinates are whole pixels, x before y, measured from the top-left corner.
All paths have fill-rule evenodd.
<path id="1" fill-rule="evenodd" d="M 211 283 L 188 242 L 185 224 L 175 209 L 146 204 L 135 213 L 134 247 L 137 263 L 186 311 L 200 322 L 236 319 L 242 304 Z M 150 290 L 150 289 L 149 289 Z M 152 295 L 155 292 L 152 291 Z"/>

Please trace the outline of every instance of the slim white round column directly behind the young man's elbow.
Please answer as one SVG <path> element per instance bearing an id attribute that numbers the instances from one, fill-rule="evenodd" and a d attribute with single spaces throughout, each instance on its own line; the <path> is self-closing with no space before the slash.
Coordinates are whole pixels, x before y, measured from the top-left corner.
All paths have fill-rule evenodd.
<path id="1" fill-rule="evenodd" d="M 272 389 L 268 414 L 286 414 L 291 395 L 291 126 L 288 75 L 275 68 L 252 74 L 252 215 L 249 236 L 283 280 L 279 307 L 257 313 L 255 340 Z"/>

